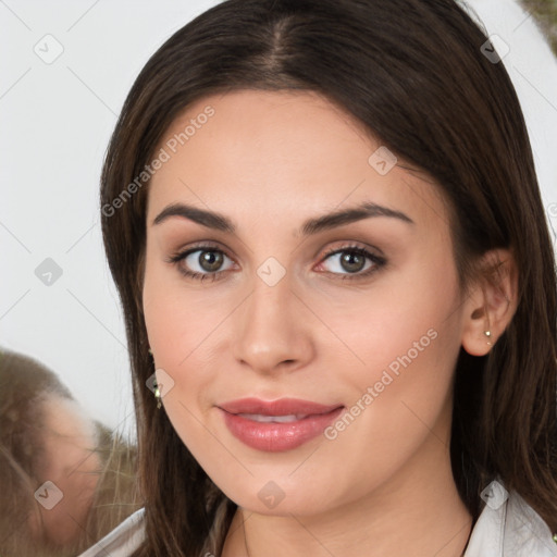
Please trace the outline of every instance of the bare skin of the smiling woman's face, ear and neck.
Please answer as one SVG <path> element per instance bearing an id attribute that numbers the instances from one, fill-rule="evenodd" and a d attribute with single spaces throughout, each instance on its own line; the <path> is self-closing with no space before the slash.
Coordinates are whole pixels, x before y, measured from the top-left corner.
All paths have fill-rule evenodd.
<path id="1" fill-rule="evenodd" d="M 313 92 L 205 98 L 159 147 L 208 104 L 214 115 L 149 186 L 144 309 L 159 381 L 174 382 L 163 392 L 168 417 L 239 506 L 224 557 L 460 556 L 471 517 L 449 462 L 453 372 L 461 346 L 486 354 L 483 332 L 495 342 L 504 331 L 513 273 L 504 296 L 479 284 L 465 297 L 440 190 L 400 160 L 380 175 L 368 159 L 381 143 Z M 362 201 L 413 224 L 374 216 L 297 233 L 306 219 Z M 182 216 L 152 224 L 174 202 L 222 213 L 237 230 Z M 220 280 L 185 277 L 166 261 L 207 242 L 225 255 Z M 325 252 L 354 245 L 386 264 L 343 280 L 355 276 L 350 268 Z M 200 255 L 180 264 L 210 273 Z M 511 264 L 507 252 L 492 256 Z M 274 286 L 257 274 L 270 257 L 286 270 Z M 429 330 L 436 338 L 333 441 L 259 451 L 230 433 L 216 408 L 247 396 L 350 408 Z M 258 497 L 270 481 L 284 494 L 272 509 Z"/>

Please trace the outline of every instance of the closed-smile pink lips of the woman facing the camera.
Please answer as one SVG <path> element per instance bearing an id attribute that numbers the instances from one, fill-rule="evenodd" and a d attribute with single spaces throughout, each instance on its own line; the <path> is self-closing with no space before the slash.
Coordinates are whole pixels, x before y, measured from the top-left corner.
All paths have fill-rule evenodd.
<path id="1" fill-rule="evenodd" d="M 297 398 L 243 398 L 218 408 L 236 438 L 251 448 L 275 453 L 297 448 L 323 433 L 344 406 Z"/>

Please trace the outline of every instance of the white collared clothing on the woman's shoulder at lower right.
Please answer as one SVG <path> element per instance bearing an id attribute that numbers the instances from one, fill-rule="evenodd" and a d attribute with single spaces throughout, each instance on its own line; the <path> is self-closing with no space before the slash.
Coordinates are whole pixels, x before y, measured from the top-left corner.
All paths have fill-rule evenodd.
<path id="1" fill-rule="evenodd" d="M 548 525 L 518 493 L 494 481 L 484 495 L 465 557 L 557 557 Z"/>

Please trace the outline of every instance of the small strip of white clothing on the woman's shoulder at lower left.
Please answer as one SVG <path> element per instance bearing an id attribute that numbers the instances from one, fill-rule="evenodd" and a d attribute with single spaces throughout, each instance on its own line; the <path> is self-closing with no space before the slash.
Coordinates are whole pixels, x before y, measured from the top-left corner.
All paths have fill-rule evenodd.
<path id="1" fill-rule="evenodd" d="M 144 508 L 136 510 L 78 557 L 128 557 L 145 540 L 144 515 Z"/>

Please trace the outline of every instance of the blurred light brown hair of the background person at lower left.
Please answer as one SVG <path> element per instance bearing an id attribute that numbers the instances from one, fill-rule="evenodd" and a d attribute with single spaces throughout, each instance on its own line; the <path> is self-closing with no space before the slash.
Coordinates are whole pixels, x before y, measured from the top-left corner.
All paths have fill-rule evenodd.
<path id="1" fill-rule="evenodd" d="M 101 469 L 87 520 L 73 543 L 60 546 L 39 521 L 29 525 L 38 503 L 34 493 L 42 483 L 46 404 L 74 400 L 54 372 L 23 354 L 0 350 L 0 493 L 9 511 L 0 513 L 0 554 L 3 557 L 71 557 L 100 540 L 143 502 L 134 471 L 136 449 L 117 432 L 94 422 Z"/>

